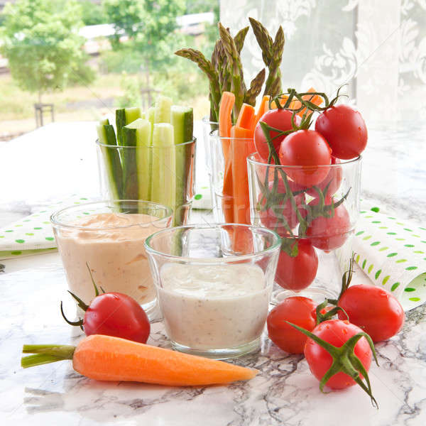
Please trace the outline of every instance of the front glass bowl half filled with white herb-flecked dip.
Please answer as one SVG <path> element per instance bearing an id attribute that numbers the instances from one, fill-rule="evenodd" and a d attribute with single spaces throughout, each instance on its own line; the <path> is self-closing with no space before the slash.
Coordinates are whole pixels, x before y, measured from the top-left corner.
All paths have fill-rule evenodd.
<path id="1" fill-rule="evenodd" d="M 158 231 L 145 246 L 174 349 L 226 359 L 259 348 L 278 234 L 243 224 L 187 225 Z"/>

